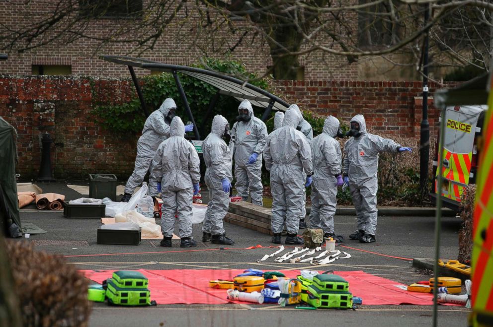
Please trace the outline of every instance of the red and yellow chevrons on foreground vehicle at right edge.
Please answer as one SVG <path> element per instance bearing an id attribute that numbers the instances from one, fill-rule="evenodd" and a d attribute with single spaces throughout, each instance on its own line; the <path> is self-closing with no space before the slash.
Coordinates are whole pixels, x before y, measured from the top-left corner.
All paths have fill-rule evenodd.
<path id="1" fill-rule="evenodd" d="M 471 299 L 474 314 L 493 315 L 493 89 L 490 90 L 488 104 L 473 220 Z M 475 320 L 473 326 L 478 326 Z"/>

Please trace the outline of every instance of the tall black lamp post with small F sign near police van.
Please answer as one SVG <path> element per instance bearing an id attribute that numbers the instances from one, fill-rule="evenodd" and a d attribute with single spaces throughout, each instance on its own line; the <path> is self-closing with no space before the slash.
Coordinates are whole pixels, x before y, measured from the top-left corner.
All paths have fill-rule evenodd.
<path id="1" fill-rule="evenodd" d="M 424 11 L 424 25 L 428 24 L 429 4 Z M 421 135 L 419 141 L 419 189 L 421 191 L 421 201 L 428 194 L 428 161 L 430 155 L 430 124 L 428 122 L 428 29 L 424 36 L 424 55 L 423 55 L 423 117 L 421 120 Z"/>

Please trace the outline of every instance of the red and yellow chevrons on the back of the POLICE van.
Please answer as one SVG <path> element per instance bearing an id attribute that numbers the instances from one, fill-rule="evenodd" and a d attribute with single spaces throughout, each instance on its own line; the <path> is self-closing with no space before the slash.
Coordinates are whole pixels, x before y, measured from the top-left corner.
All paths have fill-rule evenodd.
<path id="1" fill-rule="evenodd" d="M 472 152 L 453 153 L 444 148 L 443 156 L 450 162 L 450 164 L 448 167 L 442 168 L 442 176 L 451 182 L 459 182 L 466 185 L 469 184 L 469 172 L 471 171 L 472 155 Z M 442 193 L 441 195 L 460 202 L 462 192 L 464 192 L 464 187 L 455 183 L 450 183 L 449 188 L 450 192 L 448 194 Z M 436 183 L 435 192 L 437 193 Z"/>

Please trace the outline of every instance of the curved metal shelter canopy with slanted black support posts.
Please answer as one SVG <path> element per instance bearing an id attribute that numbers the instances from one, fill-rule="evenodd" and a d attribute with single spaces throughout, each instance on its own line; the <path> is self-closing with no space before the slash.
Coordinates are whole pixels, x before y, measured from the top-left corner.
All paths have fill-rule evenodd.
<path id="1" fill-rule="evenodd" d="M 140 89 L 140 85 L 137 81 L 137 77 L 135 75 L 133 67 L 172 73 L 178 91 L 180 93 L 181 99 L 183 100 L 183 103 L 185 105 L 185 111 L 187 112 L 188 117 L 190 118 L 190 120 L 194 125 L 195 137 L 197 139 L 200 139 L 200 133 L 195 124 L 195 120 L 193 119 L 193 114 L 190 110 L 190 106 L 188 105 L 188 101 L 186 99 L 186 95 L 183 90 L 183 87 L 181 86 L 178 72 L 187 76 L 197 78 L 218 89 L 218 93 L 211 100 L 205 118 L 208 118 L 209 115 L 211 114 L 212 109 L 215 106 L 217 98 L 220 94 L 232 96 L 239 101 L 247 99 L 255 107 L 265 108 L 265 111 L 262 115 L 263 121 L 265 121 L 270 116 L 271 110 L 286 111 L 289 107 L 289 104 L 286 101 L 282 100 L 281 98 L 265 90 L 262 90 L 257 86 L 251 85 L 250 83 L 242 81 L 238 78 L 220 74 L 212 70 L 188 67 L 188 66 L 180 66 L 180 65 L 161 64 L 147 59 L 125 57 L 125 56 L 101 56 L 100 58 L 107 62 L 128 66 L 128 69 L 130 70 L 130 74 L 132 75 L 132 80 L 134 81 L 135 89 L 137 91 L 137 94 L 141 102 L 142 110 L 144 111 L 146 116 L 149 116 L 149 111 L 146 108 L 144 97 L 142 95 L 142 91 Z"/>

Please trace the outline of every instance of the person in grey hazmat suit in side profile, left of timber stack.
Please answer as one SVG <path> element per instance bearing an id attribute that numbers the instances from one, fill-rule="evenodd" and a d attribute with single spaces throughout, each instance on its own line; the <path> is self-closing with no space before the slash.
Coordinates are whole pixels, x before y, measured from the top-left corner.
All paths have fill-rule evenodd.
<path id="1" fill-rule="evenodd" d="M 209 189 L 209 202 L 202 225 L 202 241 L 224 245 L 235 244 L 232 239 L 226 237 L 223 228 L 223 218 L 228 212 L 233 180 L 231 151 L 222 139 L 229 133 L 229 123 L 226 118 L 216 115 L 212 120 L 211 132 L 202 144 L 206 166 L 204 179 Z"/>

